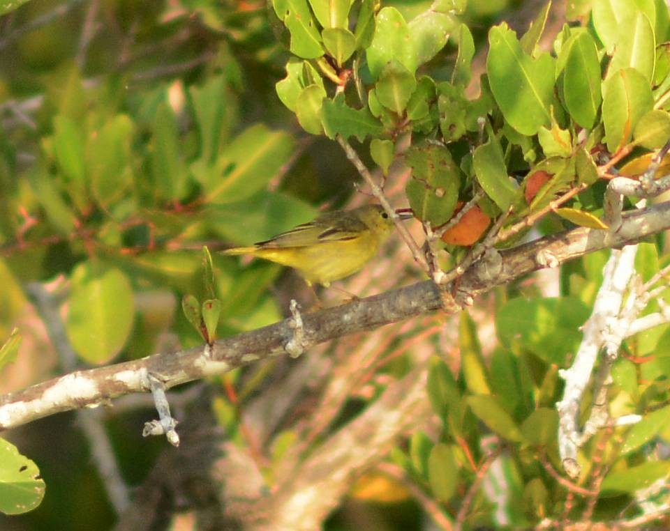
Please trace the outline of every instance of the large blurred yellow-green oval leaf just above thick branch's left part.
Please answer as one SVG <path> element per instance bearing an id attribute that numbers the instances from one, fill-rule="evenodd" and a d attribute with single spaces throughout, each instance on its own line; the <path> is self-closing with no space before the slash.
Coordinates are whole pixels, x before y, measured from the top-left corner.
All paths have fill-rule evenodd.
<path id="1" fill-rule="evenodd" d="M 126 343 L 135 317 L 133 288 L 118 269 L 84 262 L 72 274 L 68 337 L 82 360 L 109 362 Z"/>

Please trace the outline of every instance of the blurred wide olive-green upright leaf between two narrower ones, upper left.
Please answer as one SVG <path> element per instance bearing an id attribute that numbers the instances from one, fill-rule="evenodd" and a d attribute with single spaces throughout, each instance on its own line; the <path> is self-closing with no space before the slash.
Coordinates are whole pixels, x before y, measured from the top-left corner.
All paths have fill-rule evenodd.
<path id="1" fill-rule="evenodd" d="M 124 199 L 133 184 L 133 128 L 130 117 L 117 114 L 89 141 L 86 158 L 91 191 L 105 209 Z"/>

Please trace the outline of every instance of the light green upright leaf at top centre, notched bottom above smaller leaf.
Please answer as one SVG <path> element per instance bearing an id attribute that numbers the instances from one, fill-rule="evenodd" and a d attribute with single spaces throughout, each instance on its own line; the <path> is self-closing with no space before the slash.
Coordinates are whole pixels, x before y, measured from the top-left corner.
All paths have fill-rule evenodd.
<path id="1" fill-rule="evenodd" d="M 396 59 L 413 75 L 417 70 L 417 52 L 403 15 L 396 8 L 385 7 L 376 17 L 375 33 L 366 50 L 368 68 L 373 79 Z"/>

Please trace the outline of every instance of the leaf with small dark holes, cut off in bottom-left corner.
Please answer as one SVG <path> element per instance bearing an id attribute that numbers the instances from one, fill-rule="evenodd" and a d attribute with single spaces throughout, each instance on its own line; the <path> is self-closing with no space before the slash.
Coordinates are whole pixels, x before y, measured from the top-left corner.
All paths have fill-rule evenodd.
<path id="1" fill-rule="evenodd" d="M 45 488 L 37 465 L 13 444 L 0 439 L 0 512 L 32 511 L 42 502 Z"/>

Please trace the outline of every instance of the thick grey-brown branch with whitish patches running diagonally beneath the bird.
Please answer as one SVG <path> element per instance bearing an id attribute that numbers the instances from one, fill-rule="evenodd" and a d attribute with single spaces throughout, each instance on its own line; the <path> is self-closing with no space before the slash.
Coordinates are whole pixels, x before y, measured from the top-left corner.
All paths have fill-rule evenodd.
<path id="1" fill-rule="evenodd" d="M 670 203 L 650 206 L 625 215 L 620 229 L 610 234 L 599 229 L 579 228 L 540 238 L 500 252 L 502 264 L 496 275 L 481 272 L 473 264 L 461 277 L 459 291 L 472 295 L 506 284 L 535 270 L 560 265 L 567 260 L 609 246 L 620 247 L 670 228 Z M 550 260 L 547 257 L 551 257 Z M 380 295 L 349 302 L 303 316 L 306 348 L 363 330 L 403 321 L 443 308 L 435 284 L 419 282 Z M 459 307 L 445 309 L 456 313 Z M 159 376 L 166 388 L 221 374 L 258 360 L 283 355 L 294 336 L 292 319 L 176 353 L 155 354 L 87 371 L 75 371 L 38 383 L 25 390 L 0 396 L 0 431 L 61 411 L 99 405 L 134 392 L 147 392 L 149 372 Z"/>

